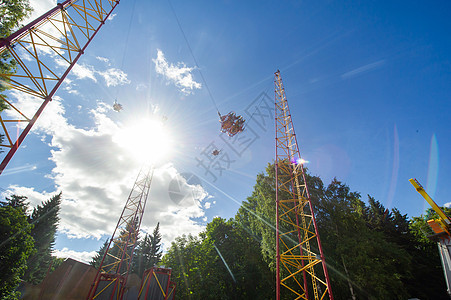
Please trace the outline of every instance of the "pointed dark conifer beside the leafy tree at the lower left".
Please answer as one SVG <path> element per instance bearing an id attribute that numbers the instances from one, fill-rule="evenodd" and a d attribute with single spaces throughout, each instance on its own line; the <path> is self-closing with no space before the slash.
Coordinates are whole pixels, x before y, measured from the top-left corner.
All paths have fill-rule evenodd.
<path id="1" fill-rule="evenodd" d="M 37 253 L 28 260 L 28 271 L 23 278 L 29 283 L 40 283 L 53 260 L 52 248 L 55 244 L 60 205 L 61 193 L 38 205 L 28 217 L 28 222 L 34 225 L 31 235 L 37 250 Z"/>

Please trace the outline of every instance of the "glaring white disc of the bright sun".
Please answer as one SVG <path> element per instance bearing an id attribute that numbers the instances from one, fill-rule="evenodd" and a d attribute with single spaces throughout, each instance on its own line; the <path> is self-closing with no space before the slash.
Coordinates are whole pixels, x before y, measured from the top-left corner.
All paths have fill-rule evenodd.
<path id="1" fill-rule="evenodd" d="M 141 119 L 120 129 L 115 141 L 125 148 L 133 159 L 143 163 L 157 163 L 169 157 L 171 138 L 160 120 Z"/>

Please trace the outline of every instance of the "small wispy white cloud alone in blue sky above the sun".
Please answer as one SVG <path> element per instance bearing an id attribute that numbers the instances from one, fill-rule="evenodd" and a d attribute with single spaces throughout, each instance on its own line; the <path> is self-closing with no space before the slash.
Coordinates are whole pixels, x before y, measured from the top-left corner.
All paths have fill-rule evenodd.
<path id="1" fill-rule="evenodd" d="M 185 94 L 190 94 L 193 89 L 200 89 L 202 85 L 193 79 L 191 71 L 185 63 L 179 62 L 176 65 L 167 62 L 163 52 L 158 49 L 157 58 L 152 59 L 155 63 L 155 71 L 163 75 L 168 81 L 173 82 Z"/>

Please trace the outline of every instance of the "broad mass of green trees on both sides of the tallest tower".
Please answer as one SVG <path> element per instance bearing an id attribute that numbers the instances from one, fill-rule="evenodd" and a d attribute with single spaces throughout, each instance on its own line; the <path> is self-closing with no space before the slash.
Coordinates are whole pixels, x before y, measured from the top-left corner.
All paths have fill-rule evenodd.
<path id="1" fill-rule="evenodd" d="M 448 299 L 426 219 L 409 219 L 334 179 L 306 181 L 336 299 Z M 178 237 L 163 257 L 183 299 L 271 299 L 275 293 L 275 172 L 268 164 L 235 218 Z M 287 295 L 282 292 L 282 299 Z"/>

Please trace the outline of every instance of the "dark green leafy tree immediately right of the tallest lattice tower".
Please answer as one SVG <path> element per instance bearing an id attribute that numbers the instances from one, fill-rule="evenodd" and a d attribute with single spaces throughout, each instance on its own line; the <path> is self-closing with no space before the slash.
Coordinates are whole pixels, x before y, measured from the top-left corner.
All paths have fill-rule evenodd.
<path id="1" fill-rule="evenodd" d="M 337 298 L 406 299 L 403 278 L 410 256 L 369 226 L 362 214 L 368 210 L 359 193 L 334 179 L 315 211 L 326 260 L 333 266 L 333 293 Z"/>

